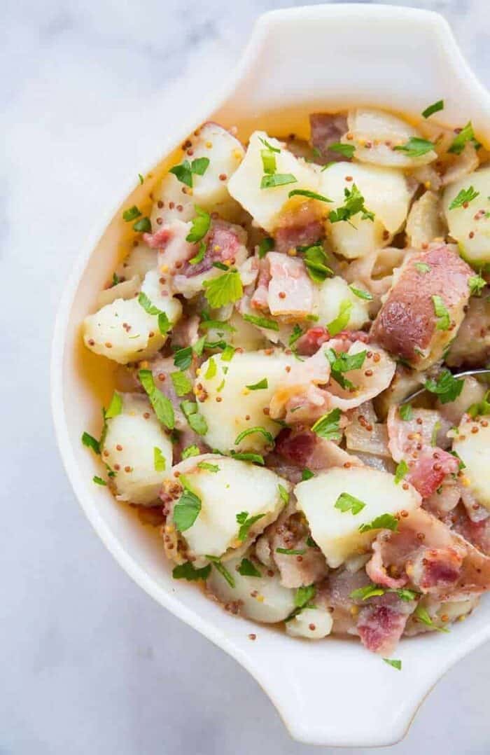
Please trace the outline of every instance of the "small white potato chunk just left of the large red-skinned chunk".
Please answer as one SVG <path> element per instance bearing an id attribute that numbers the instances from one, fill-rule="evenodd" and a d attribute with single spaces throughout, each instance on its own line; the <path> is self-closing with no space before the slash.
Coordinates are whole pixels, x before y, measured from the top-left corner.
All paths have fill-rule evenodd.
<path id="1" fill-rule="evenodd" d="M 353 288 L 365 290 L 362 283 L 353 283 Z M 315 314 L 319 317 L 318 325 L 328 325 L 340 311 L 341 304 L 350 301 L 352 308 L 349 313 L 348 330 L 358 330 L 369 322 L 369 302 L 361 299 L 349 288 L 349 284 L 341 276 L 327 278 L 318 287 Z"/>

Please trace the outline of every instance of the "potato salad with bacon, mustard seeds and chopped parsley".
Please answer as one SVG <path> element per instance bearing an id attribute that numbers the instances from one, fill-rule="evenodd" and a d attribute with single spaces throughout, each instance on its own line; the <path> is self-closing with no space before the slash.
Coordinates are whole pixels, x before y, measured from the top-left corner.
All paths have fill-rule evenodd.
<path id="1" fill-rule="evenodd" d="M 174 579 L 396 669 L 490 587 L 490 163 L 443 109 L 205 123 L 82 328 L 117 363 L 94 482 Z"/>

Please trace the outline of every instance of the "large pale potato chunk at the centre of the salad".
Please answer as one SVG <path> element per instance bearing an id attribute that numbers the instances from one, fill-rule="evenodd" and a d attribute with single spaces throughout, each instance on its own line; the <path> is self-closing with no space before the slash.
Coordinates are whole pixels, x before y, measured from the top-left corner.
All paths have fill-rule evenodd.
<path id="1" fill-rule="evenodd" d="M 286 368 L 294 361 L 294 356 L 279 351 L 236 352 L 229 362 L 223 361 L 220 354 L 207 359 L 195 384 L 199 411 L 208 424 L 205 442 L 221 451 L 261 453 L 269 442 L 262 433 L 248 435 L 238 445 L 235 440 L 251 427 L 263 427 L 273 437 L 279 433 L 281 426 L 263 410 L 268 410 L 273 394 L 286 377 Z M 267 381 L 266 388 L 247 387 L 263 380 Z"/>

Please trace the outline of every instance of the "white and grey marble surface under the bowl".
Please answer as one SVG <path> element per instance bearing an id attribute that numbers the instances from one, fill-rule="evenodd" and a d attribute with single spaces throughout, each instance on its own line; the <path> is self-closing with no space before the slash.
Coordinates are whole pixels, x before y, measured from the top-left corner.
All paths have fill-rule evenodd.
<path id="1" fill-rule="evenodd" d="M 54 313 L 108 193 L 238 58 L 254 17 L 284 5 L 2 2 L 3 755 L 313 755 L 235 661 L 112 560 L 63 473 L 48 402 Z M 490 85 L 488 0 L 405 5 L 445 14 Z M 488 753 L 489 666 L 487 645 L 451 670 L 393 755 Z"/>

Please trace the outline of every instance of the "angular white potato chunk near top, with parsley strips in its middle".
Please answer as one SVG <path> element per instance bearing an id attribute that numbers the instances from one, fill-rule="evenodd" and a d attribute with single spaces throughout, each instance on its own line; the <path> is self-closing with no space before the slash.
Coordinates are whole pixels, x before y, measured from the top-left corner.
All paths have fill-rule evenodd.
<path id="1" fill-rule="evenodd" d="M 292 174 L 296 181 L 284 186 L 273 186 L 270 189 L 260 189 L 263 162 L 261 151 L 266 149 L 260 139 L 280 149 L 280 153 L 273 153 L 276 159 L 277 174 Z M 298 159 L 282 143 L 268 136 L 265 131 L 254 131 L 248 143 L 245 159 L 239 169 L 230 179 L 228 189 L 242 207 L 247 210 L 262 228 L 273 231 L 277 226 L 282 209 L 290 201 L 288 194 L 294 189 L 306 189 L 318 192 L 319 173 L 302 159 Z"/>

